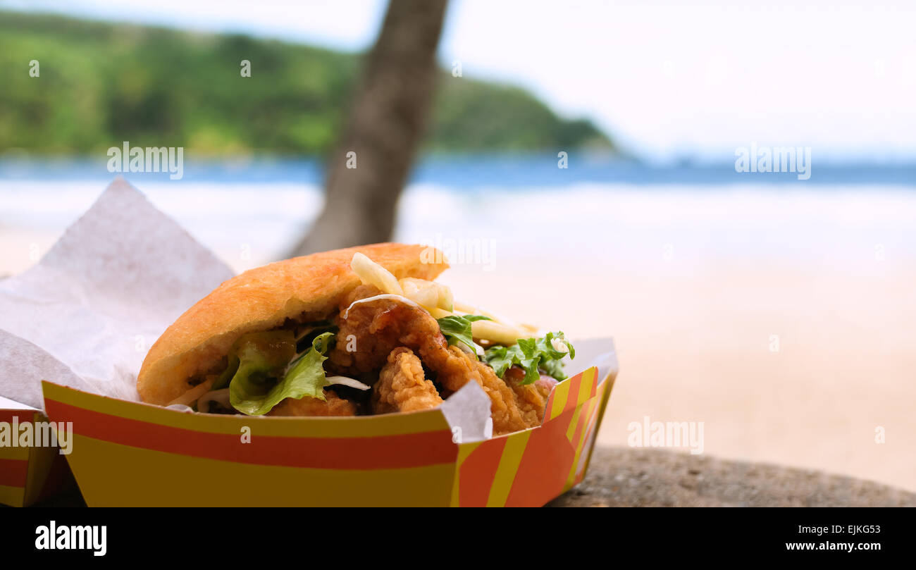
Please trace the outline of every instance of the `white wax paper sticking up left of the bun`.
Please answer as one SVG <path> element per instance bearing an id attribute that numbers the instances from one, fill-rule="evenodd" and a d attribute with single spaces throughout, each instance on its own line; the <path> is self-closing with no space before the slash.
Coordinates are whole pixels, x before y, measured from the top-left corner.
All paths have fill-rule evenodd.
<path id="1" fill-rule="evenodd" d="M 0 280 L 0 397 L 43 409 L 45 379 L 139 400 L 149 346 L 232 276 L 119 177 L 37 265 Z"/>

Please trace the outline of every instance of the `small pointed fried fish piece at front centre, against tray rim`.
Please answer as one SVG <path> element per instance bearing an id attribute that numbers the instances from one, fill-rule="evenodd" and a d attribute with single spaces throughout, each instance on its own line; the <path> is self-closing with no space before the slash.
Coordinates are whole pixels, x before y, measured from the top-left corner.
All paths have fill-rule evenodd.
<path id="1" fill-rule="evenodd" d="M 436 387 L 423 378 L 420 358 L 404 346 L 392 350 L 372 391 L 372 411 L 430 410 L 441 403 Z"/>

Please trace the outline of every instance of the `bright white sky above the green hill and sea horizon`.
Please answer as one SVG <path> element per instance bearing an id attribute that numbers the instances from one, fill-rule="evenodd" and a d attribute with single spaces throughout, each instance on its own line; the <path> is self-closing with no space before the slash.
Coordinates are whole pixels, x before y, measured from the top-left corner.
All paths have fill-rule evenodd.
<path id="1" fill-rule="evenodd" d="M 591 118 L 647 158 L 734 159 L 756 141 L 820 158 L 916 159 L 916 2 L 688 4 L 453 0 L 441 59 Z M 385 5 L 0 0 L 348 50 L 371 45 Z"/>

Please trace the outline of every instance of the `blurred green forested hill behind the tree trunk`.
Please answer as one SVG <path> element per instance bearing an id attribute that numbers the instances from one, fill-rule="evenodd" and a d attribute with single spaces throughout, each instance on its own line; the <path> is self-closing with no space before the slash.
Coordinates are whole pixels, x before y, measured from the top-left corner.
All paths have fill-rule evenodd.
<path id="1" fill-rule="evenodd" d="M 40 77 L 29 77 L 30 60 Z M 0 150 L 84 153 L 128 140 L 322 154 L 344 125 L 360 65 L 279 41 L 0 12 Z M 563 120 L 522 90 L 443 71 L 428 149 L 585 145 L 611 148 L 590 123 Z"/>

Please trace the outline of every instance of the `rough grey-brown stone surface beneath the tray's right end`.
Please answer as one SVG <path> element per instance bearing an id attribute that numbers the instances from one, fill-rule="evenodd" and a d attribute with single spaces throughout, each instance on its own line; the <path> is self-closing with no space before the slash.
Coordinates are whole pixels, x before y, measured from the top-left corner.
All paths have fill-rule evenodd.
<path id="1" fill-rule="evenodd" d="M 657 449 L 595 447 L 549 507 L 916 507 L 916 493 L 853 477 Z"/>

